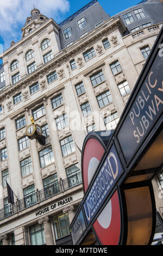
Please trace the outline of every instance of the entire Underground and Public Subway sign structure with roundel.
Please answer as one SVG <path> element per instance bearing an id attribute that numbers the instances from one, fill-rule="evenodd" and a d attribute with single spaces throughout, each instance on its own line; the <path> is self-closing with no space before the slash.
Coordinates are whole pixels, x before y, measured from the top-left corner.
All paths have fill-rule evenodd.
<path id="1" fill-rule="evenodd" d="M 162 168 L 163 147 L 162 29 L 116 130 L 108 137 L 99 131 L 85 138 L 84 198 L 70 225 L 74 245 L 89 241 L 90 230 L 101 245 L 148 245 L 153 240 L 151 180 Z"/>

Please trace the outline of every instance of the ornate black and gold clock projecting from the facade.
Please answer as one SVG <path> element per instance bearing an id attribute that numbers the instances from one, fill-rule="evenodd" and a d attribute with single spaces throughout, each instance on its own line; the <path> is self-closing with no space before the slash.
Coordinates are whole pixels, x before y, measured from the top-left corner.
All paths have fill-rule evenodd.
<path id="1" fill-rule="evenodd" d="M 33 117 L 30 118 L 32 124 L 27 126 L 26 135 L 29 139 L 37 139 L 41 145 L 45 145 L 45 136 L 42 135 L 43 131 L 39 124 L 34 124 Z"/>

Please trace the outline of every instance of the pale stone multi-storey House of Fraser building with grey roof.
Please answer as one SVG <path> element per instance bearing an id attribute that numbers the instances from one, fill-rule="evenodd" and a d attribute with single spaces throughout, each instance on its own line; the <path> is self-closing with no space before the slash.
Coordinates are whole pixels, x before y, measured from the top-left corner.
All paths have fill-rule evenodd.
<path id="1" fill-rule="evenodd" d="M 0 243 L 68 245 L 87 132 L 115 129 L 162 26 L 162 3 L 110 17 L 93 0 L 59 25 L 38 9 L 0 57 Z M 26 136 L 30 118 L 46 144 Z M 153 181 L 162 219 L 162 172 Z M 7 183 L 15 193 L 8 203 Z"/>

